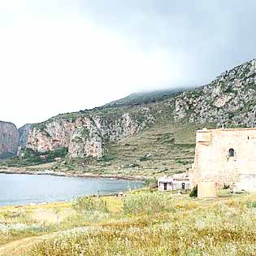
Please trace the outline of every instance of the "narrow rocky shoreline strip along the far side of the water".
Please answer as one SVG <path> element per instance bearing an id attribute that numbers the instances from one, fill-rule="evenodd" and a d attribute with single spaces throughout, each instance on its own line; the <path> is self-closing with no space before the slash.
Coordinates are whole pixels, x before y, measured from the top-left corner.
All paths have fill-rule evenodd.
<path id="1" fill-rule="evenodd" d="M 146 176 L 119 176 L 114 174 L 93 174 L 91 172 L 76 172 L 76 171 L 28 171 L 20 170 L 19 168 L 0 169 L 0 174 L 26 174 L 26 175 L 50 175 L 50 176 L 63 176 L 63 177 L 78 177 L 78 178 L 105 178 L 115 180 L 132 180 L 132 181 L 145 181 L 151 177 Z"/>

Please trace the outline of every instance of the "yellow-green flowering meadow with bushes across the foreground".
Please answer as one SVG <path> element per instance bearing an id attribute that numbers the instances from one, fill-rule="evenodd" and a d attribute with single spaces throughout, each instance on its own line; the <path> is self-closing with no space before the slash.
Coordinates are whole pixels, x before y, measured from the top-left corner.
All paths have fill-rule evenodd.
<path id="1" fill-rule="evenodd" d="M 2 207 L 0 255 L 255 255 L 256 195 L 221 195 L 206 201 L 145 189 Z"/>

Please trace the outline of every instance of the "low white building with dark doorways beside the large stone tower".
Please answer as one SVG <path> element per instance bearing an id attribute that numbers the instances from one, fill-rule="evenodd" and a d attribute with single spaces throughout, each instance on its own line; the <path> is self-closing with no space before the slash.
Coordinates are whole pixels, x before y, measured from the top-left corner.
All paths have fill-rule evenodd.
<path id="1" fill-rule="evenodd" d="M 163 176 L 158 178 L 158 190 L 184 190 L 189 189 L 189 177 L 174 175 L 172 177 Z"/>

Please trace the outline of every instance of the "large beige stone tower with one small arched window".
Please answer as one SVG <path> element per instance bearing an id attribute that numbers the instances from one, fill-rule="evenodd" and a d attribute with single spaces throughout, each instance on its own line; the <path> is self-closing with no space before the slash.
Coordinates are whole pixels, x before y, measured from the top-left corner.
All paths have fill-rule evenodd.
<path id="1" fill-rule="evenodd" d="M 256 191 L 256 128 L 219 128 L 197 131 L 191 188 L 215 182 L 248 192 Z"/>

